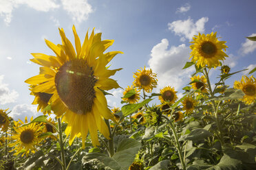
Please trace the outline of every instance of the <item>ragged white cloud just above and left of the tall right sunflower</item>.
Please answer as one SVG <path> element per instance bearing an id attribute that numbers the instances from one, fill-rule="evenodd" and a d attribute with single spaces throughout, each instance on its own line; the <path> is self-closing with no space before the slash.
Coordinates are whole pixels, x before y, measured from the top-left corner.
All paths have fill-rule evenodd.
<path id="1" fill-rule="evenodd" d="M 181 40 L 184 40 L 184 38 L 192 40 L 193 36 L 197 35 L 198 32 L 204 32 L 204 24 L 208 21 L 208 17 L 202 17 L 195 23 L 191 18 L 184 21 L 178 20 L 168 23 L 168 29 L 174 32 L 175 35 L 182 36 Z"/>

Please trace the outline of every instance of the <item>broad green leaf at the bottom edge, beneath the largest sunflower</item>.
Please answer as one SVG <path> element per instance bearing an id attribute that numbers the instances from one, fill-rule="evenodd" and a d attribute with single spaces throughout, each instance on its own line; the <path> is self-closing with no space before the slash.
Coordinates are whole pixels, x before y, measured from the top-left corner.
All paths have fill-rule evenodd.
<path id="1" fill-rule="evenodd" d="M 134 162 L 134 158 L 140 149 L 141 144 L 133 138 L 123 139 L 118 147 L 117 152 L 112 158 L 101 153 L 89 153 L 85 155 L 82 162 L 96 162 L 98 167 L 113 170 L 127 170 Z"/>

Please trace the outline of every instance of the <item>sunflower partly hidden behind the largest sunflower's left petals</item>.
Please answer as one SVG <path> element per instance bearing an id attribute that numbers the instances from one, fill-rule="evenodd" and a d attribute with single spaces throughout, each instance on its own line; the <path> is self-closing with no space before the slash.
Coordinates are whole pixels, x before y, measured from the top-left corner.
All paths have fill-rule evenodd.
<path id="1" fill-rule="evenodd" d="M 33 86 L 31 86 L 33 87 Z M 34 86 L 35 87 L 35 86 Z M 32 88 L 30 88 L 31 90 Z M 34 101 L 32 102 L 32 104 L 36 105 L 38 104 L 39 106 L 37 106 L 37 112 L 41 111 L 43 112 L 43 114 L 51 114 L 51 110 L 44 110 L 46 106 L 48 106 L 48 102 L 50 100 L 50 98 L 52 97 L 52 94 L 49 93 L 33 93 L 31 92 L 30 95 L 34 95 Z"/>

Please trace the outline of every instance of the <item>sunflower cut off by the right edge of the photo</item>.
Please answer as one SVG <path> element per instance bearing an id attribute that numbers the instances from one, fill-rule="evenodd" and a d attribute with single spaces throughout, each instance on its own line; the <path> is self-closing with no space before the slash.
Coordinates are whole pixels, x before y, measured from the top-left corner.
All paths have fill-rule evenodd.
<path id="1" fill-rule="evenodd" d="M 255 77 L 246 75 L 242 76 L 241 82 L 235 81 L 234 88 L 241 89 L 244 97 L 241 99 L 245 104 L 252 104 L 256 100 L 256 79 Z"/>

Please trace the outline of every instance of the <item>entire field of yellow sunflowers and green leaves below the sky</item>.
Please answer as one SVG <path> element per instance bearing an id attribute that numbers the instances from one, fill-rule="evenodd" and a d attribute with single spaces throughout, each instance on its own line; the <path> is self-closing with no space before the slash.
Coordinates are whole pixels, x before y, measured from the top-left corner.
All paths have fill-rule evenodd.
<path id="1" fill-rule="evenodd" d="M 39 74 L 25 83 L 41 116 L 14 121 L 0 108 L 0 169 L 256 169 L 256 68 L 228 86 L 244 70 L 223 64 L 217 33 L 193 37 L 183 69 L 195 73 L 178 97 L 171 82 L 152 93 L 158 75 L 146 67 L 121 88 L 109 62 L 122 51 L 105 52 L 114 40 L 72 30 L 75 45 L 59 29 L 61 44 L 45 40 L 54 56 L 32 53 Z M 113 88 L 123 90 L 120 108 L 107 104 Z"/>

